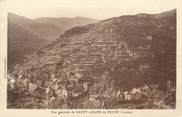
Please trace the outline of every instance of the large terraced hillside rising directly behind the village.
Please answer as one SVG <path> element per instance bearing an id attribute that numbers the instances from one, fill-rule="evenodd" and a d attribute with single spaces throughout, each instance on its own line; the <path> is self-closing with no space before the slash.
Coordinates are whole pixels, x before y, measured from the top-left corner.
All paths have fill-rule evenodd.
<path id="1" fill-rule="evenodd" d="M 175 87 L 176 11 L 121 16 L 74 27 L 17 69 L 12 74 L 31 76 L 31 80 L 42 83 L 50 79 L 86 82 L 88 96 L 103 96 L 106 102 L 112 102 L 118 89 L 129 91 L 145 84 L 151 87 L 157 84 L 160 92 L 166 90 L 168 80 Z M 84 97 L 79 100 L 70 100 L 69 108 L 112 108 L 107 104 L 85 107 L 90 101 Z M 77 103 L 82 106 L 75 107 Z"/>

